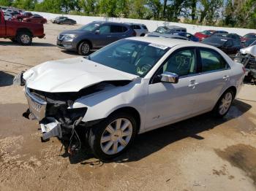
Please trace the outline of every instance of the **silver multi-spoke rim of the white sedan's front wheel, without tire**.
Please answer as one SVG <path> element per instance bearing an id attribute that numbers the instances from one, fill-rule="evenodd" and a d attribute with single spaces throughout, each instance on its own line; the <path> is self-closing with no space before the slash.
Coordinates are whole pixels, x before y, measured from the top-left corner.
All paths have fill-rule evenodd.
<path id="1" fill-rule="evenodd" d="M 124 118 L 118 118 L 105 128 L 100 139 L 102 151 L 108 155 L 121 152 L 132 137 L 132 122 Z"/>

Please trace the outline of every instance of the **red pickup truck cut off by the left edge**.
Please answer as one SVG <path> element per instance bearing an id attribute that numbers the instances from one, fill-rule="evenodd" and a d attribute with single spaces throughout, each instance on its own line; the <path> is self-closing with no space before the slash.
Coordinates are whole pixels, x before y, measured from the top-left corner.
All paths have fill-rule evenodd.
<path id="1" fill-rule="evenodd" d="M 4 20 L 4 13 L 0 10 L 0 38 L 11 39 L 22 45 L 30 45 L 32 38 L 45 37 L 44 26 L 41 23 L 26 23 Z"/>

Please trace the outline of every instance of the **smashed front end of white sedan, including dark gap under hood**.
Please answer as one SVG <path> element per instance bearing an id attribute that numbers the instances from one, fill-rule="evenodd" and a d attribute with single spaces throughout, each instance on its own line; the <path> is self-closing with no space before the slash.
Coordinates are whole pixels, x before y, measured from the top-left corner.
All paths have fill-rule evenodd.
<path id="1" fill-rule="evenodd" d="M 129 82 L 128 80 L 100 82 L 76 93 L 48 93 L 25 86 L 29 109 L 23 114 L 23 117 L 39 121 L 42 141 L 48 141 L 51 137 L 69 140 L 69 150 L 74 152 L 80 149 L 77 128 L 83 127 L 79 129 L 83 129 L 84 132 L 98 122 L 98 120 L 84 122 L 83 117 L 86 115 L 87 107 L 73 108 L 75 101 L 86 95 L 127 85 Z M 73 141 L 74 139 L 75 141 Z"/>

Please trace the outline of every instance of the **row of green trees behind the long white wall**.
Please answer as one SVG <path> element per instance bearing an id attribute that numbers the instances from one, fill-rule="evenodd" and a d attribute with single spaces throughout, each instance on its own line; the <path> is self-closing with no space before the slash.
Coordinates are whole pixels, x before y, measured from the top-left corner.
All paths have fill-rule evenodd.
<path id="1" fill-rule="evenodd" d="M 37 12 L 256 28 L 256 0 L 0 0 Z"/>

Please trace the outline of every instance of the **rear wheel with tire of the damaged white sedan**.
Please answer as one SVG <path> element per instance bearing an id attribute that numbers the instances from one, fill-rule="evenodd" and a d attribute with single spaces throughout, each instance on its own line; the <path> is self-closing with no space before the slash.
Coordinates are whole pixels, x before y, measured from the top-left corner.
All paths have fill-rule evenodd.
<path id="1" fill-rule="evenodd" d="M 235 98 L 233 90 L 226 90 L 225 93 L 219 98 L 219 101 L 214 106 L 214 115 L 216 117 L 224 117 L 230 110 L 230 106 Z"/>

